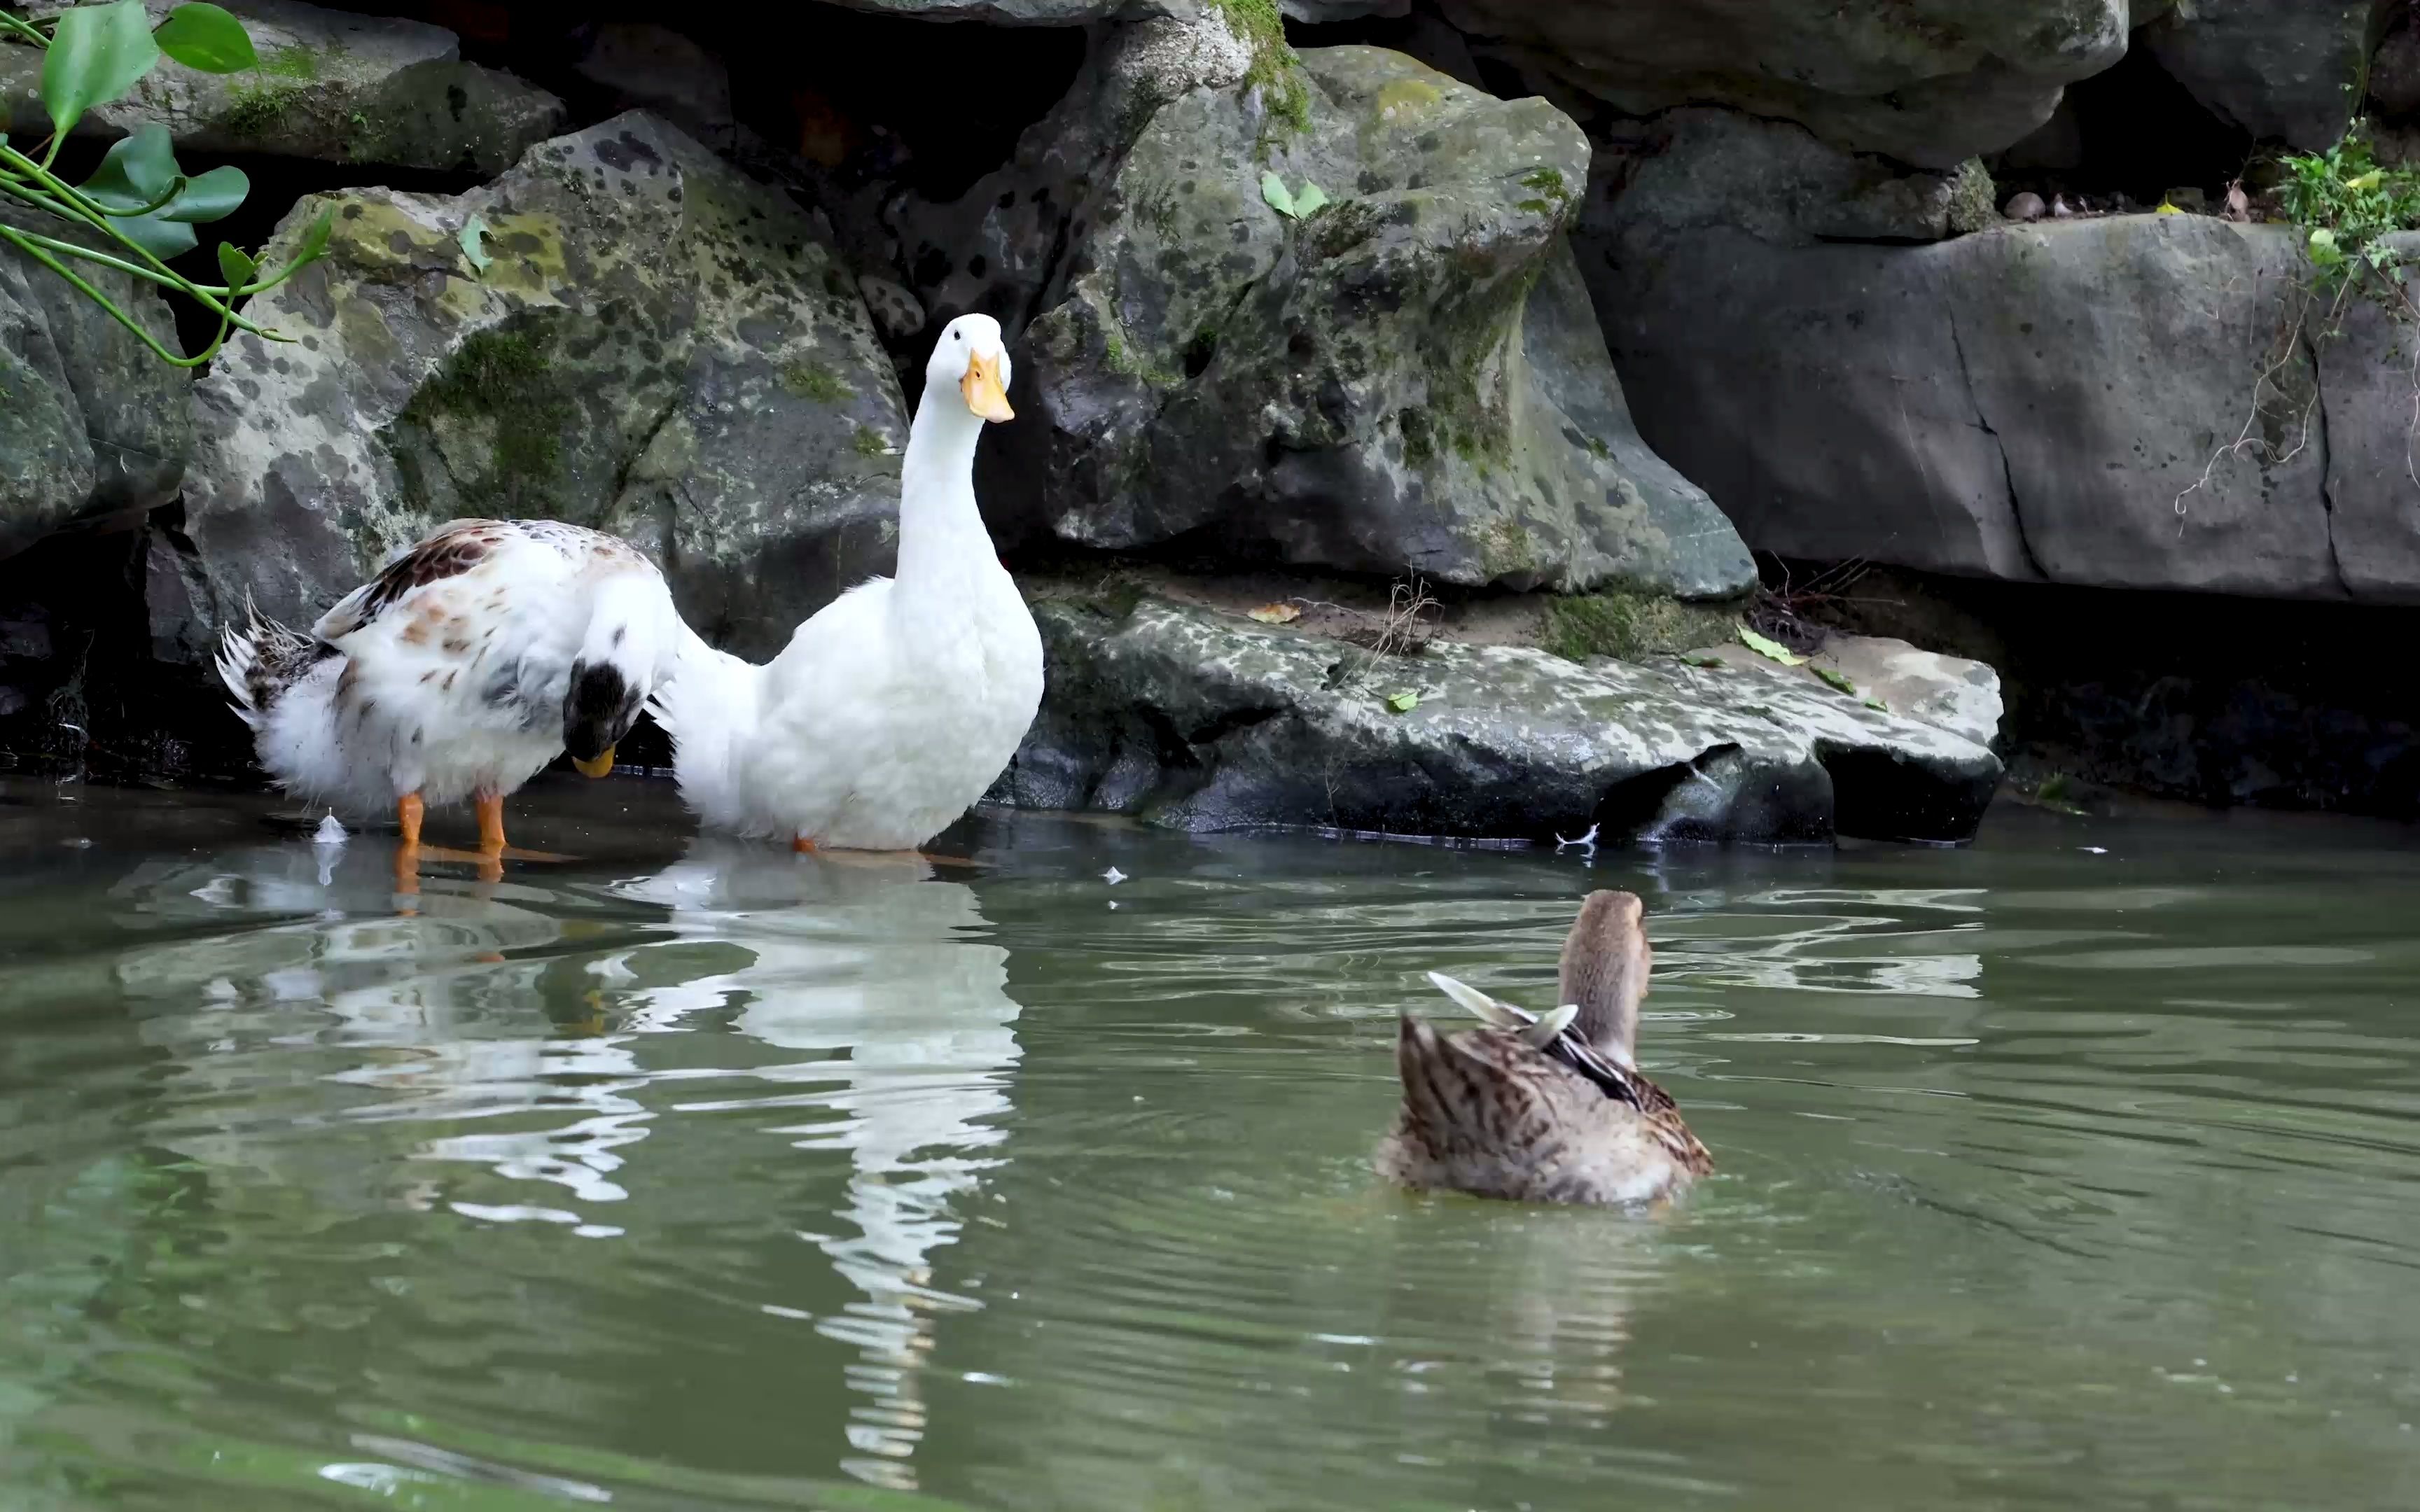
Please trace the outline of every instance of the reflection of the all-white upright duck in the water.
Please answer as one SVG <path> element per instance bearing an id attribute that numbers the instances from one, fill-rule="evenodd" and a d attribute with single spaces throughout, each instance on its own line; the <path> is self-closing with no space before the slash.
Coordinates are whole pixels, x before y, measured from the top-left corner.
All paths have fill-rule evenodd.
<path id="1" fill-rule="evenodd" d="M 854 1231 L 803 1234 L 859 1292 L 816 1318 L 818 1333 L 859 1350 L 847 1384 L 871 1398 L 849 1413 L 854 1454 L 842 1468 L 915 1490 L 910 1454 L 924 1437 L 917 1372 L 937 1318 L 980 1306 L 932 1285 L 929 1253 L 956 1241 L 963 1202 L 999 1161 L 987 1152 L 1007 1139 L 999 1118 L 1012 1108 L 1019 1060 L 1009 956 L 980 939 L 987 922 L 975 890 L 939 881 L 915 854 L 842 861 L 699 837 L 680 864 L 617 893 L 673 910 L 670 927 L 685 939 L 736 941 L 748 953 L 731 973 L 624 989 L 636 1011 L 741 1004 L 741 1033 L 811 1052 L 757 1077 L 808 1086 L 772 1106 L 818 1113 L 767 1132 L 799 1149 L 847 1152 L 852 1164 L 835 1217 Z M 600 973 L 644 973 L 636 956 L 600 963 Z"/>

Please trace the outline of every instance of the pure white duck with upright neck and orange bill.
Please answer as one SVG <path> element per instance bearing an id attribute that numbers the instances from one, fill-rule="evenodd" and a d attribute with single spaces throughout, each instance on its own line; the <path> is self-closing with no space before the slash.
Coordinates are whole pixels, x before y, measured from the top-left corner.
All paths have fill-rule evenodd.
<path id="1" fill-rule="evenodd" d="M 1014 419 L 1007 385 L 999 322 L 949 322 L 900 462 L 898 576 L 842 593 L 765 665 L 680 631 L 651 709 L 704 823 L 801 852 L 917 849 L 1016 755 L 1043 644 L 975 510 L 975 440 Z"/>

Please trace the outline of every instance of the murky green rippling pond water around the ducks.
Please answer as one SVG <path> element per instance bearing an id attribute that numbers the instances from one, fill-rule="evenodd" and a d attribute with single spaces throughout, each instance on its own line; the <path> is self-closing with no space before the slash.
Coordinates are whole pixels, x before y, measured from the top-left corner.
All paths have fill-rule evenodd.
<path id="1" fill-rule="evenodd" d="M 542 781 L 0 803 L 0 1507 L 2413 1507 L 2420 844 L 1474 852 Z M 1108 883 L 1116 866 L 1125 881 Z M 1660 1217 L 1370 1173 L 1648 900 Z"/>

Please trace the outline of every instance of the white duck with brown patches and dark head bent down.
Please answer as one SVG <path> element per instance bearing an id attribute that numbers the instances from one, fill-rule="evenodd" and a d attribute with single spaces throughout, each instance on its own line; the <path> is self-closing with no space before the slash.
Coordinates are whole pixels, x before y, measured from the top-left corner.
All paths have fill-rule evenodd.
<path id="1" fill-rule="evenodd" d="M 346 815 L 392 810 L 397 876 L 428 803 L 469 798 L 499 861 L 503 798 L 571 750 L 588 777 L 673 673 L 680 614 L 627 542 L 557 520 L 453 520 L 295 634 L 247 605 L 218 677 L 269 774 Z"/>

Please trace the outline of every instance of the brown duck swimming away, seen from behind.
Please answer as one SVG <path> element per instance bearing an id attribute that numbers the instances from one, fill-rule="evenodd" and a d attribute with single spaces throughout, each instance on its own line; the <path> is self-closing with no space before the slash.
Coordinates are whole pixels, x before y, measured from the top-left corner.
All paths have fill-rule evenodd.
<path id="1" fill-rule="evenodd" d="M 1404 1110 L 1379 1173 L 1515 1202 L 1648 1202 L 1713 1171 L 1631 1060 L 1650 963 L 1643 914 L 1631 893 L 1588 895 L 1563 941 L 1563 1006 L 1544 1018 L 1428 973 L 1488 1028 L 1437 1035 L 1404 1014 Z"/>

